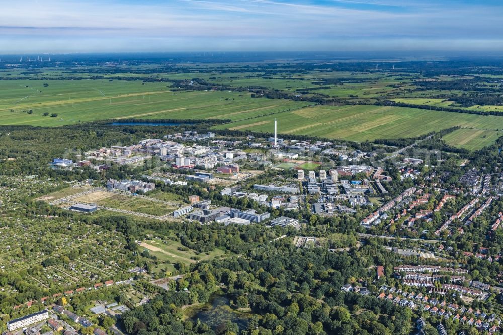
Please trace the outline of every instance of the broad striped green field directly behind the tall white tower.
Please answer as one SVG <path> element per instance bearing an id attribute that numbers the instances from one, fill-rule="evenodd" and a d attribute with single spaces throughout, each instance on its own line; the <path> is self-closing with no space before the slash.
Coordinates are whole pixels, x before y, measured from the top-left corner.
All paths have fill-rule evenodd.
<path id="1" fill-rule="evenodd" d="M 373 105 L 302 108 L 252 120 L 235 121 L 215 128 L 271 132 L 274 119 L 278 120 L 279 133 L 351 141 L 415 137 L 453 126 L 487 130 L 503 129 L 501 116 Z"/>

